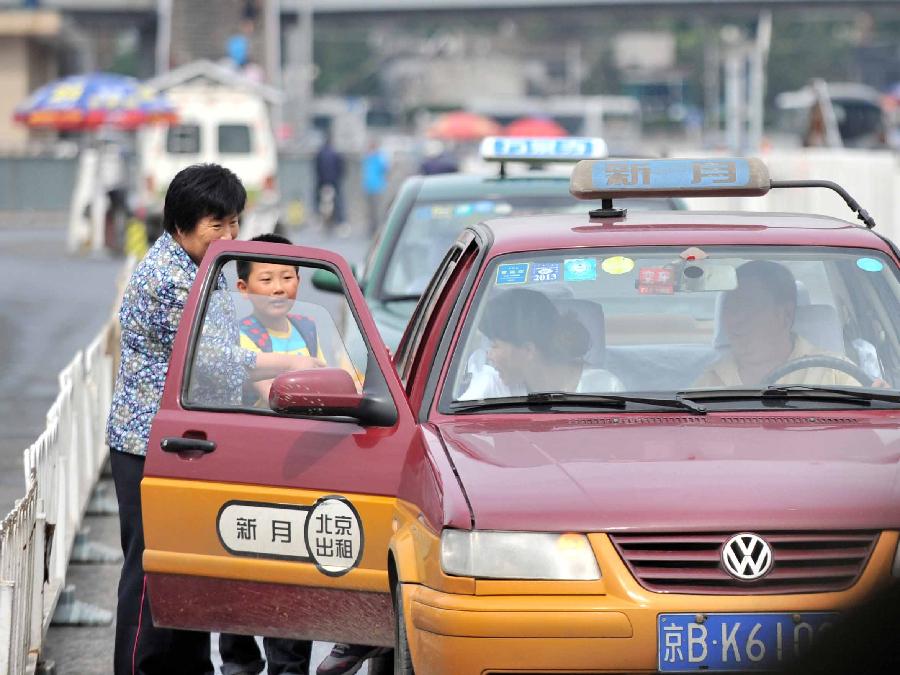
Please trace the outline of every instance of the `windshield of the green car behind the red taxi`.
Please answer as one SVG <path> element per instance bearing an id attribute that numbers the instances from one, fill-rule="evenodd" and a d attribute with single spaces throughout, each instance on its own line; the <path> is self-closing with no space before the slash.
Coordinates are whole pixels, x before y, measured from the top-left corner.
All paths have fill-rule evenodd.
<path id="1" fill-rule="evenodd" d="M 418 296 L 425 292 L 431 275 L 447 249 L 467 225 L 502 216 L 535 213 L 587 213 L 594 208 L 565 192 L 562 182 L 559 195 L 512 196 L 470 201 L 417 202 L 410 209 L 401 233 L 387 262 L 381 297 Z M 635 210 L 669 210 L 669 199 L 622 199 L 622 208 Z"/>

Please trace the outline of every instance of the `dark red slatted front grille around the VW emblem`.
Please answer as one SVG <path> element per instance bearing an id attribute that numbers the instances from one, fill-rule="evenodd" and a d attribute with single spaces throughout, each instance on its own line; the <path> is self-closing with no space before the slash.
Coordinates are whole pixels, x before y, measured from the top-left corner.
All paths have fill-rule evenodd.
<path id="1" fill-rule="evenodd" d="M 644 588 L 715 595 L 843 590 L 859 578 L 878 540 L 877 532 L 757 532 L 772 547 L 772 568 L 756 581 L 741 581 L 722 564 L 722 547 L 734 534 L 611 534 L 609 538 Z"/>

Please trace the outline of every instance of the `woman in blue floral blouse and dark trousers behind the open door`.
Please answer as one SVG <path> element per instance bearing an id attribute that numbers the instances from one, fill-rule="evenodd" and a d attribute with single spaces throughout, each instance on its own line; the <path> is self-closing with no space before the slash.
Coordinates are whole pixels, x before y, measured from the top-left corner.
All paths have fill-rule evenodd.
<path id="1" fill-rule="evenodd" d="M 162 398 L 172 343 L 197 266 L 213 241 L 237 236 L 245 201 L 240 180 L 224 167 L 203 164 L 180 171 L 166 193 L 165 232 L 138 264 L 122 300 L 121 364 L 106 430 L 125 556 L 116 612 L 117 675 L 213 672 L 208 634 L 154 628 L 150 620 L 141 562 L 140 483 L 150 425 Z M 224 283 L 220 278 L 223 289 Z M 216 386 L 236 396 L 246 379 L 318 365 L 304 356 L 242 350 L 236 322 L 229 320 L 227 312 L 220 317 L 216 356 L 223 376 Z"/>

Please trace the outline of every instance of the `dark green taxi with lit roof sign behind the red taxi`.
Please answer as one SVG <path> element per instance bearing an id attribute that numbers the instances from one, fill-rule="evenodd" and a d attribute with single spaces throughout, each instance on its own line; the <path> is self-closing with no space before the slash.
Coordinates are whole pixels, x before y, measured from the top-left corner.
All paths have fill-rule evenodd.
<path id="1" fill-rule="evenodd" d="M 388 347 L 397 347 L 441 258 L 467 225 L 492 217 L 587 212 L 589 207 L 569 193 L 571 167 L 606 154 L 600 138 L 490 137 L 481 145 L 481 157 L 497 167 L 493 172 L 408 178 L 360 274 L 366 302 Z M 674 197 L 628 199 L 624 206 L 685 208 Z M 318 288 L 341 292 L 335 282 L 328 274 L 313 278 Z"/>

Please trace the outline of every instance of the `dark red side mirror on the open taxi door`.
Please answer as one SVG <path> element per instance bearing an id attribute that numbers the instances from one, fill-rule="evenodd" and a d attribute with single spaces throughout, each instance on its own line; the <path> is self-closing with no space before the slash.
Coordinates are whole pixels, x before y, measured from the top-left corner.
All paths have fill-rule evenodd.
<path id="1" fill-rule="evenodd" d="M 269 407 L 294 415 L 353 417 L 361 424 L 390 426 L 396 419 L 378 398 L 356 391 L 350 374 L 341 368 L 310 368 L 278 375 L 269 389 Z"/>

